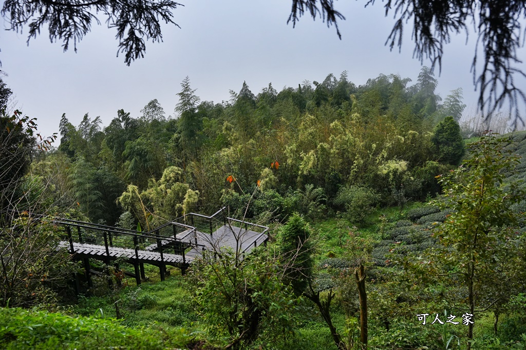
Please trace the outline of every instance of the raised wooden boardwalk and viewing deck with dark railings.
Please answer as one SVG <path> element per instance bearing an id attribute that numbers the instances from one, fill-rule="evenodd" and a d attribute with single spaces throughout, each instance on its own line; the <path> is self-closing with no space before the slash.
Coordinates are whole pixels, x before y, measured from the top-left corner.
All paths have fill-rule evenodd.
<path id="1" fill-rule="evenodd" d="M 183 217 L 184 222 L 189 221 L 191 224 L 194 224 L 195 219 L 196 225 L 200 225 L 201 229 L 209 228 L 209 233 L 177 221 L 168 222 L 149 232 L 137 232 L 57 219 L 56 223 L 65 226 L 68 236 L 67 240 L 59 242 L 59 247 L 66 248 L 74 259 L 84 261 L 86 280 L 92 285 L 89 275 L 95 271 L 90 268 L 89 259 L 100 260 L 107 265 L 112 261 L 116 263 L 117 259 L 133 264 L 134 274 L 124 272 L 134 276 L 137 284 L 140 284 L 141 279 L 145 279 L 145 263 L 159 267 L 161 280 L 164 280 L 166 266 L 178 267 L 184 273 L 191 263 L 203 258 L 205 251 L 214 254 L 234 251 L 242 258 L 255 247 L 266 245 L 268 227 L 228 217 L 218 218 L 222 210 L 212 216 L 190 213 Z M 216 229 L 213 231 L 214 227 Z M 77 229 L 78 238 L 73 235 L 72 228 Z"/>

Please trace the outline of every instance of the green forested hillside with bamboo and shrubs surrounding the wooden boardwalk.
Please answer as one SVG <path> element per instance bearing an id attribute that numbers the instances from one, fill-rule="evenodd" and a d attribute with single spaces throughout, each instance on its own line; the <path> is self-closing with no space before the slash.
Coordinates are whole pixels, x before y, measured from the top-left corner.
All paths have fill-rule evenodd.
<path id="1" fill-rule="evenodd" d="M 2 82 L 0 347 L 523 349 L 526 134 L 461 127 L 437 84 L 342 72 L 214 103 L 187 77 L 174 116 L 63 115 L 46 139 Z M 75 292 L 55 218 L 150 232 L 221 207 L 268 244 L 140 287 L 92 261 Z"/>

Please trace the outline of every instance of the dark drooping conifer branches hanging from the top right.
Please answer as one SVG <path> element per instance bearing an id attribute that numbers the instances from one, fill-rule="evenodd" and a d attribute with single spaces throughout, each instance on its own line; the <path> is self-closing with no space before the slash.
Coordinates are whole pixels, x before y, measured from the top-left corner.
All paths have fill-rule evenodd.
<path id="1" fill-rule="evenodd" d="M 375 0 L 368 0 L 374 5 Z M 419 6 L 422 4 L 423 6 Z M 386 45 L 391 50 L 402 47 L 404 24 L 412 23 L 412 40 L 414 57 L 421 63 L 424 59 L 431 61 L 431 69 L 437 63 L 441 69 L 444 44 L 449 44 L 451 36 L 465 32 L 468 35 L 468 23 L 473 23 L 477 35 L 477 47 L 474 52 L 471 70 L 473 82 L 479 89 L 479 108 L 491 114 L 508 101 L 514 107 L 515 123 L 521 122 L 519 102 L 526 102 L 526 95 L 519 89 L 514 78 L 526 78 L 524 72 L 517 68 L 522 60 L 517 50 L 524 46 L 523 20 L 526 18 L 526 1 L 503 0 L 434 0 L 416 3 L 409 0 L 387 0 L 386 16 L 394 12 L 396 23 L 389 34 Z M 292 0 L 289 22 L 295 26 L 305 13 L 313 19 L 320 16 L 327 26 L 334 25 L 341 39 L 338 19 L 345 19 L 332 0 Z M 481 49 L 483 59 L 479 67 Z"/>

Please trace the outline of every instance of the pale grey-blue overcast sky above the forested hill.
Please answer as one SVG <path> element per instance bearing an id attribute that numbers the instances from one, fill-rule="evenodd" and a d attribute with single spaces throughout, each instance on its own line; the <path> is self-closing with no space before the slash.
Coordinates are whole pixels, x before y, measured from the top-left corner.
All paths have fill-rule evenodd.
<path id="1" fill-rule="evenodd" d="M 243 81 L 257 94 L 269 82 L 280 91 L 347 70 L 357 85 L 380 73 L 411 78 L 413 84 L 421 68 L 412 58 L 410 26 L 401 52 L 384 45 L 395 20 L 385 17 L 381 2 L 367 8 L 363 0 L 336 2 L 347 18 L 339 23 L 339 40 L 336 29 L 319 18 L 302 17 L 296 28 L 287 25 L 290 0 L 180 1 L 185 6 L 174 11 L 174 20 L 181 28 L 163 26 L 164 42 L 148 43 L 145 58 L 129 67 L 123 55 L 116 57 L 116 31 L 102 17 L 103 25 L 95 25 L 80 41 L 77 53 L 64 53 L 61 43 L 50 43 L 47 30 L 29 46 L 27 32 L 1 31 L 0 60 L 8 75 L 3 80 L 16 94 L 17 108 L 38 118 L 39 131 L 50 135 L 58 132 L 63 113 L 74 125 L 85 113 L 92 119 L 100 115 L 108 125 L 118 109 L 137 117 L 157 99 L 167 116 L 174 115 L 176 93 L 186 76 L 201 100 L 221 102 Z M 440 96 L 461 87 L 468 110 L 478 97 L 470 73 L 475 44 L 475 35 L 467 45 L 466 35 L 453 37 L 440 76 L 436 70 Z"/>

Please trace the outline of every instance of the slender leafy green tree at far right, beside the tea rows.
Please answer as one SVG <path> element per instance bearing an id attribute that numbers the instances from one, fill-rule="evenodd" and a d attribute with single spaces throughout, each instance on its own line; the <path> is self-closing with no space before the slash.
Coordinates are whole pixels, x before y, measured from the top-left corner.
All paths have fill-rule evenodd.
<path id="1" fill-rule="evenodd" d="M 469 340 L 473 339 L 473 321 L 478 312 L 500 298 L 494 295 L 484 299 L 484 282 L 490 282 L 489 286 L 505 283 L 488 277 L 510 258 L 507 250 L 514 249 L 517 255 L 512 228 L 518 217 L 511 205 L 524 194 L 517 183 L 503 184 L 505 174 L 514 173 L 519 164 L 518 157 L 504 151 L 508 142 L 494 135 L 482 136 L 471 144 L 470 158 L 464 166 L 441 178 L 445 200 L 437 204 L 452 209 L 452 214 L 434 233 L 442 249 L 432 260 L 443 262 L 444 270 L 449 272 L 445 275 L 461 277 L 468 296 Z"/>

